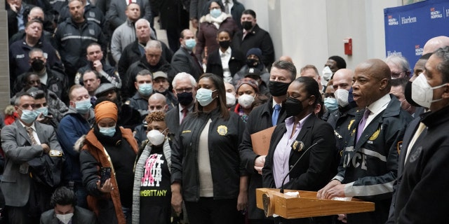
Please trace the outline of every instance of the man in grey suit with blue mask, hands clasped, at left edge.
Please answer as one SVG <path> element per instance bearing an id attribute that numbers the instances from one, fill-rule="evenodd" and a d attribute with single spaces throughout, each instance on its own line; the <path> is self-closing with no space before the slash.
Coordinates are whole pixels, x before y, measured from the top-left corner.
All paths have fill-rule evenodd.
<path id="1" fill-rule="evenodd" d="M 34 98 L 29 94 L 22 94 L 15 100 L 15 111 L 19 119 L 12 125 L 1 130 L 1 147 L 5 153 L 4 176 L 0 183 L 5 195 L 8 210 L 9 223 L 35 223 L 39 221 L 41 212 L 36 211 L 36 205 L 48 204 L 48 197 L 38 192 L 40 183 L 38 175 L 43 168 L 48 169 L 55 164 L 62 165 L 62 149 L 56 139 L 53 127 L 34 122 L 36 113 L 34 111 Z M 58 162 L 59 160 L 59 162 Z M 41 169 L 36 169 L 41 167 Z M 58 170 L 61 167 L 54 167 Z M 53 172 L 53 168 L 48 172 Z M 60 172 L 58 172 L 60 175 Z M 48 185 L 57 186 L 60 176 L 53 176 L 54 182 L 40 179 Z M 42 189 L 42 188 L 41 188 Z M 38 209 L 39 210 L 39 209 Z"/>

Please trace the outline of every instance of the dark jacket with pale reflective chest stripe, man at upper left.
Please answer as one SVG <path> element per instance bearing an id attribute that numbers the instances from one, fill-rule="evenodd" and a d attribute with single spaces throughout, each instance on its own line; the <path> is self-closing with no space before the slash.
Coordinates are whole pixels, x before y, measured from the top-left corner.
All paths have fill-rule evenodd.
<path id="1" fill-rule="evenodd" d="M 87 64 L 86 48 L 89 44 L 100 44 L 103 52 L 106 52 L 107 46 L 105 35 L 98 24 L 91 20 L 85 20 L 78 27 L 72 18 L 68 18 L 58 25 L 54 41 L 66 71 L 72 73 Z"/>

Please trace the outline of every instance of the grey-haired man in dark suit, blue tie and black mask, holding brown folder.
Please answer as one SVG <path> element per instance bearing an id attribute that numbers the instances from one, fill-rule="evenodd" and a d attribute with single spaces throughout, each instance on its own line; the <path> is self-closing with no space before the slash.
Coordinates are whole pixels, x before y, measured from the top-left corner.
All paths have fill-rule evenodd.
<path id="1" fill-rule="evenodd" d="M 265 218 L 264 212 L 255 204 L 255 188 L 262 188 L 262 167 L 265 155 L 257 155 L 253 151 L 251 134 L 273 127 L 286 119 L 283 102 L 287 97 L 288 85 L 295 80 L 296 68 L 290 62 L 274 62 L 270 72 L 269 91 L 272 98 L 265 104 L 251 111 L 246 123 L 243 140 L 239 146 L 240 159 L 249 176 L 248 218 L 253 223 L 273 223 Z M 277 111 L 277 112 L 276 112 Z M 275 116 L 277 113 L 277 117 Z"/>

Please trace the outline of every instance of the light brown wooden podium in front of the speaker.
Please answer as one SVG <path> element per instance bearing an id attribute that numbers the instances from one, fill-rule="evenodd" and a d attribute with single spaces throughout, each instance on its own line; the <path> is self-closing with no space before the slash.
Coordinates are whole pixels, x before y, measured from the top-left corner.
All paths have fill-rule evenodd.
<path id="1" fill-rule="evenodd" d="M 373 202 L 364 202 L 355 198 L 349 201 L 321 200 L 316 198 L 314 191 L 284 190 L 284 192 L 295 191 L 300 193 L 300 197 L 279 193 L 279 189 L 257 188 L 257 208 L 264 209 L 267 217 L 276 214 L 283 218 L 306 218 L 374 211 Z"/>

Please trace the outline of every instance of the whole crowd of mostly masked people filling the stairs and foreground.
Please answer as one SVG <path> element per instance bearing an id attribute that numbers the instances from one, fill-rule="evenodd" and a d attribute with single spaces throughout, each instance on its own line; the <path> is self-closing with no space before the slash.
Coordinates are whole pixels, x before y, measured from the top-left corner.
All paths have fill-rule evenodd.
<path id="1" fill-rule="evenodd" d="M 1 223 L 448 221 L 448 196 L 434 192 L 449 184 L 449 37 L 430 39 L 413 69 L 399 55 L 354 69 L 335 55 L 319 71 L 275 61 L 236 0 L 6 9 Z M 252 135 L 271 127 L 256 153 Z M 356 197 L 375 211 L 265 217 L 256 188 Z"/>

